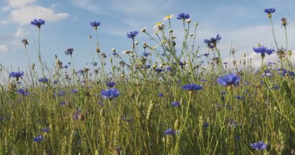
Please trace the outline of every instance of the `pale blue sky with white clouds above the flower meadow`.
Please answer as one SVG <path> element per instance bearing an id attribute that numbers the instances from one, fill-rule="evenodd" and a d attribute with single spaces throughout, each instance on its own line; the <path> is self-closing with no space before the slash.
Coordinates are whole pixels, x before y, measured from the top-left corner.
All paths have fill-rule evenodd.
<path id="1" fill-rule="evenodd" d="M 109 55 L 113 47 L 118 53 L 131 49 L 131 39 L 126 37 L 126 32 L 147 27 L 147 31 L 153 34 L 155 23 L 166 22 L 164 16 L 177 16 L 180 12 L 189 13 L 192 23 L 199 23 L 197 45 L 201 47 L 200 53 L 206 52 L 203 39 L 220 34 L 219 47 L 225 60 L 232 41 L 238 56 L 249 52 L 254 61 L 259 61 L 252 48 L 257 43 L 269 47 L 273 41 L 264 8 L 277 9 L 273 21 L 279 45 L 285 45 L 280 18 L 289 19 L 289 48 L 295 49 L 295 25 L 283 1 L 295 18 L 295 0 L 0 0 L 0 63 L 9 69 L 26 70 L 28 61 L 21 40 L 27 38 L 31 61 L 38 64 L 33 44 L 34 41 L 37 43 L 38 33 L 30 25 L 33 18 L 46 20 L 46 25 L 41 28 L 43 60 L 52 66 L 56 54 L 62 62 L 70 62 L 64 51 L 73 47 L 78 69 L 86 62 L 92 62 L 90 50 L 95 50 L 95 40 L 90 44 L 89 35 L 95 38 L 95 31 L 89 26 L 90 21 L 101 22 L 98 28 L 101 51 Z M 172 19 L 172 29 L 180 38 L 181 24 L 176 18 Z M 143 33 L 136 40 L 140 45 L 150 42 Z M 270 59 L 274 60 L 275 56 Z"/>

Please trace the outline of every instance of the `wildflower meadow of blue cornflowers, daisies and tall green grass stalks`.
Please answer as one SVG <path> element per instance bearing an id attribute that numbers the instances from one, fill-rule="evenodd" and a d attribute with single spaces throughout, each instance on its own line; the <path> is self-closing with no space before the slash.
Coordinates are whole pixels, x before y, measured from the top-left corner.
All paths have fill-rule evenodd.
<path id="1" fill-rule="evenodd" d="M 276 9 L 261 14 L 272 26 L 273 46 L 257 43 L 241 58 L 233 47 L 219 49 L 227 34 L 197 42 L 201 23 L 189 13 L 128 31 L 130 49 L 120 51 L 102 51 L 105 23 L 89 21 L 84 29 L 92 30 L 95 48 L 85 50 L 92 62 L 84 68 L 75 67 L 73 47 L 45 63 L 40 38 L 47 20 L 28 21 L 38 34 L 34 44 L 19 40 L 29 67 L 0 66 L 0 154 L 295 155 L 295 63 L 287 37 L 292 25 L 281 18 L 286 39 L 279 45 Z M 173 31 L 175 23 L 183 31 Z M 139 35 L 150 40 L 137 40 Z M 29 54 L 29 46 L 37 54 Z M 261 56 L 260 67 L 248 58 L 253 52 Z M 269 55 L 279 61 L 265 62 Z"/>

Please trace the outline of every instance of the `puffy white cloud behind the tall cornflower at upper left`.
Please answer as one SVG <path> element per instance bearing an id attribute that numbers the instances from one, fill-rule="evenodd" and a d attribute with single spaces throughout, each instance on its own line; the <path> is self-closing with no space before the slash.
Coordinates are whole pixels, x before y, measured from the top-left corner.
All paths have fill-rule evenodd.
<path id="1" fill-rule="evenodd" d="M 30 23 L 33 18 L 42 18 L 46 21 L 59 21 L 69 16 L 67 13 L 55 14 L 52 9 L 42 6 L 25 6 L 11 11 L 12 20 L 21 25 Z"/>

